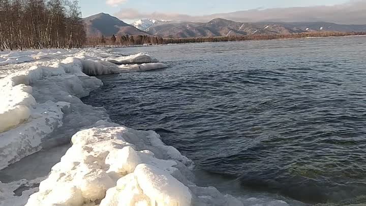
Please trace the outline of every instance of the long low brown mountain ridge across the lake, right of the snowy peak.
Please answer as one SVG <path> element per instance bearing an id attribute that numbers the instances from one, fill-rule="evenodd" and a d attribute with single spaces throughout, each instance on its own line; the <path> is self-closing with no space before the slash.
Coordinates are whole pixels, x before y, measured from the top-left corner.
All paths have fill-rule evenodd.
<path id="1" fill-rule="evenodd" d="M 302 32 L 365 32 L 366 25 L 342 25 L 327 22 L 243 23 L 222 18 L 207 23 L 168 21 L 151 25 L 146 32 L 165 38 L 293 34 Z"/>

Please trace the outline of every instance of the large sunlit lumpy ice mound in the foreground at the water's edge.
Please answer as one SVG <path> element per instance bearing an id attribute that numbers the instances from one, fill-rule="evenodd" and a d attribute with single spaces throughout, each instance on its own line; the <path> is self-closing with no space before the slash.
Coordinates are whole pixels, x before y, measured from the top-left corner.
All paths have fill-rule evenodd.
<path id="1" fill-rule="evenodd" d="M 72 143 L 26 206 L 243 205 L 215 188 L 195 186 L 192 162 L 153 131 L 100 121 Z"/>

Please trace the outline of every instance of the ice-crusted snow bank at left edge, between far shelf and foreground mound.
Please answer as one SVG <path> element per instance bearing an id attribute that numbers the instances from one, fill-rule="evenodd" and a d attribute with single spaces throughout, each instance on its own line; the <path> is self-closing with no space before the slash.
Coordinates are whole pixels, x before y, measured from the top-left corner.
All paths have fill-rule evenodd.
<path id="1" fill-rule="evenodd" d="M 42 139 L 63 126 L 64 112 L 74 101 L 72 96 L 86 96 L 102 85 L 94 77 L 81 80 L 86 75 L 78 72 L 82 66 L 75 62 L 57 67 L 34 66 L 0 79 L 0 97 L 5 100 L 0 103 L 0 169 L 39 151 Z M 34 91 L 29 85 L 37 82 L 43 84 Z M 56 86 L 58 92 L 38 95 Z M 51 98 L 56 95 L 62 101 Z M 45 101 L 36 101 L 47 97 Z"/>

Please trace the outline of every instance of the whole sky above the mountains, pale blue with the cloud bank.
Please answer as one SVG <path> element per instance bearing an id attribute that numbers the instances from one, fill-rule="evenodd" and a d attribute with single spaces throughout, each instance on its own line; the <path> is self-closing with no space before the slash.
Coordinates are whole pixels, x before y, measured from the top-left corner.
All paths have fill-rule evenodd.
<path id="1" fill-rule="evenodd" d="M 140 18 L 299 21 L 305 17 L 304 20 L 309 21 L 334 18 L 336 20 L 331 22 L 363 24 L 363 12 L 366 11 L 366 0 L 79 0 L 79 4 L 83 17 L 104 12 L 127 23 Z"/>

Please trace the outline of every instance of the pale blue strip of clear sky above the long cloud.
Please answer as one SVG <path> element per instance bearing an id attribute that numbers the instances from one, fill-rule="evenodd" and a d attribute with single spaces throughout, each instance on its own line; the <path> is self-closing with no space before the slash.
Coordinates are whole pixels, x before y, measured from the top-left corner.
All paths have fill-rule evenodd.
<path id="1" fill-rule="evenodd" d="M 115 5 L 111 6 L 107 1 Z M 347 2 L 349 0 L 79 0 L 83 17 L 101 12 L 113 15 L 121 9 L 135 9 L 141 13 L 159 12 L 198 16 L 258 8 L 330 6 Z"/>

